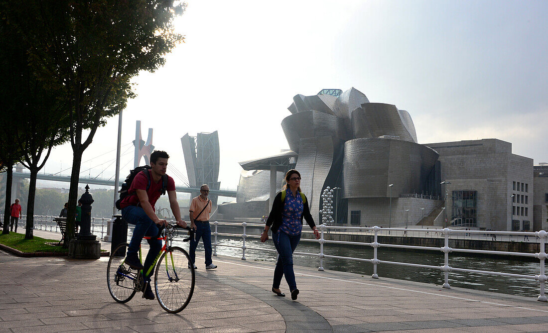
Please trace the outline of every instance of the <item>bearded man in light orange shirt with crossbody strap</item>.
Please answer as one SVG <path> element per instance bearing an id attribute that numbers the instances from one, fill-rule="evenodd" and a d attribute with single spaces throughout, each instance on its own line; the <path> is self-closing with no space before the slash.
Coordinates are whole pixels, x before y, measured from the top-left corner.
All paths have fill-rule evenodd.
<path id="1" fill-rule="evenodd" d="M 209 227 L 209 213 L 211 213 L 212 202 L 208 198 L 209 186 L 204 184 L 200 186 L 200 195 L 192 199 L 190 203 L 190 227 L 196 230 L 195 237 L 190 238 L 190 260 L 196 267 L 196 247 L 200 237 L 204 244 L 206 252 L 206 269 L 215 269 L 211 259 L 211 228 Z"/>

